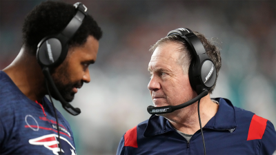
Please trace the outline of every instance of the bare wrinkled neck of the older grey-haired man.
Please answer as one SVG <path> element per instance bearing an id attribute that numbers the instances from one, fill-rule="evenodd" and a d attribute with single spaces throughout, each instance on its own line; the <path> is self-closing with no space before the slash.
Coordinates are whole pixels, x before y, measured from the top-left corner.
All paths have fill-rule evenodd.
<path id="1" fill-rule="evenodd" d="M 188 107 L 184 107 L 181 110 L 177 110 L 177 114 L 173 114 L 174 117 L 168 118 L 170 123 L 175 127 L 176 130 L 183 132 L 185 134 L 195 134 L 198 130 L 200 130 L 199 126 L 199 117 L 197 110 L 198 102 L 190 105 Z M 199 112 L 201 117 L 201 125 L 204 127 L 206 123 L 215 116 L 219 105 L 217 103 L 213 103 L 210 99 L 210 95 L 204 96 L 200 100 L 199 104 Z"/>

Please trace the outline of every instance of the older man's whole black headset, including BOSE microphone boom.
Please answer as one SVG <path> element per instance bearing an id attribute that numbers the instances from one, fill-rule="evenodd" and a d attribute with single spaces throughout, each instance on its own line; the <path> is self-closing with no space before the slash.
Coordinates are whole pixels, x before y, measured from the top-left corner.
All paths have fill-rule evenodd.
<path id="1" fill-rule="evenodd" d="M 197 92 L 198 96 L 186 103 L 175 106 L 168 105 L 164 107 L 154 107 L 150 105 L 147 108 L 149 114 L 170 113 L 199 101 L 202 97 L 208 94 L 208 90 L 213 87 L 217 78 L 217 71 L 213 61 L 206 54 L 204 46 L 193 31 L 188 28 L 178 28 L 168 32 L 167 37 L 172 35 L 181 37 L 183 42 L 191 49 L 190 52 L 192 52 L 193 60 L 190 63 L 188 74 L 190 85 L 193 90 Z"/>

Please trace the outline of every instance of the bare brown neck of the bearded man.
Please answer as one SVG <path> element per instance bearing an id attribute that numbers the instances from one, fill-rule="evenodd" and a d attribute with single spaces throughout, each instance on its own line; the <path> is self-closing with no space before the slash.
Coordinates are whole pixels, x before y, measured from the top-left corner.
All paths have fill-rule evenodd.
<path id="1" fill-rule="evenodd" d="M 3 70 L 17 85 L 19 90 L 32 101 L 39 101 L 46 94 L 44 77 L 35 55 L 21 48 L 17 57 Z"/>

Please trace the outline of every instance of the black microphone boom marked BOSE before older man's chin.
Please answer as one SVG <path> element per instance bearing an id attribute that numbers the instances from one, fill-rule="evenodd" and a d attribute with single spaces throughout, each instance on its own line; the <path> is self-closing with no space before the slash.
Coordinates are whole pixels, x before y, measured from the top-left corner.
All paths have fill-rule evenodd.
<path id="1" fill-rule="evenodd" d="M 189 105 L 192 105 L 196 101 L 199 101 L 202 97 L 206 96 L 208 94 L 208 90 L 204 90 L 201 92 L 198 96 L 196 96 L 194 99 L 191 99 L 190 101 L 187 101 L 186 103 L 182 103 L 180 105 L 168 105 L 164 107 L 154 107 L 152 105 L 148 106 L 147 110 L 149 114 L 166 114 L 170 112 L 174 112 L 175 110 L 179 110 L 184 107 L 188 107 Z"/>

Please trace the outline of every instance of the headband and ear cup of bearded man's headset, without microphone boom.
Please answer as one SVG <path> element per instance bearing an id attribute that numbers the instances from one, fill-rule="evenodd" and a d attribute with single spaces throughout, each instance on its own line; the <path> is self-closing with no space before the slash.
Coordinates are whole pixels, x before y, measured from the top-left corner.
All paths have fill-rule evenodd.
<path id="1" fill-rule="evenodd" d="M 68 41 L 72 39 L 81 27 L 87 15 L 87 8 L 82 3 L 74 4 L 77 12 L 71 21 L 58 34 L 44 37 L 37 45 L 37 60 L 42 67 L 56 67 L 60 65 L 68 53 Z"/>

